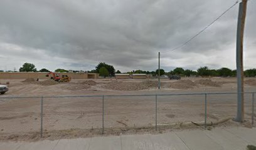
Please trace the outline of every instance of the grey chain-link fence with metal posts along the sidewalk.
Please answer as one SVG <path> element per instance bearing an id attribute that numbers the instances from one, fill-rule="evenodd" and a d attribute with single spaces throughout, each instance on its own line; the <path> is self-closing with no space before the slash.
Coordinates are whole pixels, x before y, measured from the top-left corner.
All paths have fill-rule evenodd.
<path id="1" fill-rule="evenodd" d="M 255 93 L 244 93 L 244 119 L 252 126 L 254 97 Z M 236 113 L 237 93 L 0 97 L 0 138 L 29 133 L 65 136 L 74 130 L 79 136 L 81 129 L 103 134 L 109 129 L 206 128 Z"/>

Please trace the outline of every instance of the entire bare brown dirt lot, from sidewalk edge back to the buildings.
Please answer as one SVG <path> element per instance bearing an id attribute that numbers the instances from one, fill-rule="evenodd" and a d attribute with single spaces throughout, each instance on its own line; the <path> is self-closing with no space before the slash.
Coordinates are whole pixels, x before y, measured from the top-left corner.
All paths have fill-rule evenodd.
<path id="1" fill-rule="evenodd" d="M 70 83 L 35 81 L 34 79 L 1 79 L 9 81 L 9 91 L 0 95 L 0 140 L 37 139 L 40 132 L 41 98 L 9 96 L 88 96 L 43 99 L 43 137 L 67 138 L 101 134 L 102 95 L 104 97 L 104 128 L 107 134 L 138 132 L 176 124 L 181 128 L 191 121 L 204 121 L 205 96 L 116 96 L 127 94 L 223 93 L 236 92 L 236 78 L 183 78 L 181 81 L 163 79 L 161 90 L 157 79 L 97 79 L 73 80 Z M 256 91 L 256 79 L 245 79 L 245 91 Z M 109 96 L 107 96 L 109 95 Z M 112 96 L 110 96 L 112 95 Z M 115 95 L 115 96 L 113 96 Z M 207 121 L 233 118 L 236 95 L 209 95 Z M 250 121 L 252 96 L 245 94 L 245 119 Z M 255 117 L 256 118 L 256 117 Z M 183 125 L 181 125 L 183 124 Z M 147 127 L 147 128 L 145 128 Z M 196 128 L 196 126 L 192 126 Z M 82 130 L 82 131 L 81 131 Z M 83 133 L 83 134 L 81 134 Z M 67 136 L 69 135 L 69 136 Z"/>

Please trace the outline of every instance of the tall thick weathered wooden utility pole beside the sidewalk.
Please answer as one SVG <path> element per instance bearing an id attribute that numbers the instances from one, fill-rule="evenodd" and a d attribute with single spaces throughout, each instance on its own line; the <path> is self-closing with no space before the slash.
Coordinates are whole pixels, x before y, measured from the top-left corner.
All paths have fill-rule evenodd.
<path id="1" fill-rule="evenodd" d="M 237 23 L 237 118 L 235 121 L 244 121 L 244 94 L 243 94 L 243 32 L 245 29 L 245 16 L 247 0 L 239 4 Z"/>

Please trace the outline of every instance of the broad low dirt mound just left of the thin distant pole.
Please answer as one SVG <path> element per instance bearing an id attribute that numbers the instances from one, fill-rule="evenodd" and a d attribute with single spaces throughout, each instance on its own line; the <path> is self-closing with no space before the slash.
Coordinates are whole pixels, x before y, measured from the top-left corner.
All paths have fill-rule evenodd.
<path id="1" fill-rule="evenodd" d="M 136 91 L 148 89 L 148 86 L 142 85 L 141 83 L 123 83 L 122 81 L 111 81 L 110 83 L 106 84 L 104 88 L 118 91 Z"/>

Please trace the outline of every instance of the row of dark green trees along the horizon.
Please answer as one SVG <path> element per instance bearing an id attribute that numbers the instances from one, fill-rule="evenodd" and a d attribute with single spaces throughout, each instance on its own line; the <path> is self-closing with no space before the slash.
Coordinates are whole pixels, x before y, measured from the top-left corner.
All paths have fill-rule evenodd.
<path id="1" fill-rule="evenodd" d="M 3 72 L 3 71 L 0 71 Z M 37 71 L 35 64 L 31 63 L 24 63 L 21 68 L 19 68 L 19 72 L 50 72 L 50 70 L 46 68 L 42 68 L 39 71 Z M 66 69 L 56 69 L 56 73 L 68 73 L 68 70 Z M 73 71 L 74 73 L 80 72 L 80 71 Z M 88 73 L 99 73 L 100 76 L 115 76 L 115 74 L 120 74 L 121 71 L 117 70 L 115 71 L 114 66 L 102 63 L 100 62 L 95 69 L 92 71 L 87 71 Z M 158 69 L 156 71 L 143 71 L 143 70 L 133 70 L 124 72 L 125 74 L 152 74 L 152 76 L 157 76 Z M 237 71 L 232 70 L 229 68 L 220 68 L 220 69 L 210 69 L 207 66 L 200 67 L 196 71 L 190 70 L 190 69 L 183 69 L 183 68 L 175 68 L 171 71 L 164 71 L 164 69 L 160 69 L 160 76 L 171 76 L 171 75 L 179 75 L 179 76 L 221 76 L 221 77 L 235 77 L 237 76 Z M 255 77 L 256 76 L 256 69 L 247 69 L 244 71 L 244 75 L 246 77 Z"/>

